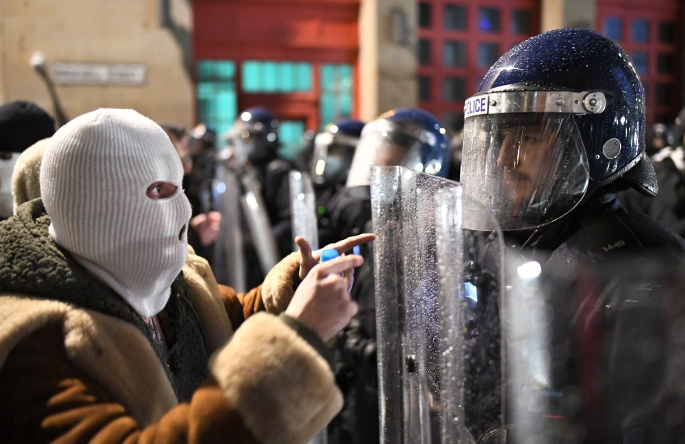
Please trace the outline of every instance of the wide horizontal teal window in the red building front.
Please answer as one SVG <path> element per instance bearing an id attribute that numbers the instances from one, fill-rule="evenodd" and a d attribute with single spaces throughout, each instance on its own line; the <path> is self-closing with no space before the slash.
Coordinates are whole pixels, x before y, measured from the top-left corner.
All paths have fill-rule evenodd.
<path id="1" fill-rule="evenodd" d="M 311 64 L 245 61 L 241 67 L 241 88 L 245 93 L 291 93 L 312 89 Z"/>

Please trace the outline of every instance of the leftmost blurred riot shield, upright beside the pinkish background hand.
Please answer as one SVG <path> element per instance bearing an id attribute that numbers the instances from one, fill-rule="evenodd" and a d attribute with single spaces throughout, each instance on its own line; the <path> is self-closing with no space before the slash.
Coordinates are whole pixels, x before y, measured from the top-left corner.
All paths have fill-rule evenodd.
<path id="1" fill-rule="evenodd" d="M 212 268 L 216 280 L 246 291 L 243 228 L 240 223 L 240 181 L 238 176 L 220 163 L 213 186 L 216 211 L 221 213 L 219 233 L 214 243 Z"/>

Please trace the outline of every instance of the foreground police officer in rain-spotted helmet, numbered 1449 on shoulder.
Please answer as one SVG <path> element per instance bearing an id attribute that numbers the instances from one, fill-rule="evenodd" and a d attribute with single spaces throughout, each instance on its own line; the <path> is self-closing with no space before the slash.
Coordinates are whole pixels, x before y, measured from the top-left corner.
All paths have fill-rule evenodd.
<path id="1" fill-rule="evenodd" d="M 504 231 L 509 253 L 539 262 L 542 276 L 631 254 L 644 256 L 646 263 L 651 252 L 670 258 L 674 267 L 683 266 L 682 239 L 651 218 L 627 213 L 616 199 L 624 188 L 645 196 L 657 192 L 654 168 L 645 153 L 644 104 L 644 89 L 629 56 L 595 31 L 558 29 L 514 46 L 466 102 L 461 168 L 465 201 L 486 208 L 484 215 L 494 216 Z M 474 217 L 465 225 L 494 229 L 487 220 Z M 558 341 L 552 344 L 556 370 L 549 395 L 559 396 L 564 405 L 553 416 L 565 436 L 563 441 L 547 436 L 549 442 L 683 439 L 677 430 L 682 422 L 669 423 L 664 405 L 651 404 L 666 378 L 660 365 L 663 356 L 647 363 L 638 353 L 645 345 L 641 341 L 656 337 L 652 333 L 659 327 L 636 323 L 630 311 L 634 301 L 615 284 L 591 301 L 602 338 L 596 343 L 593 356 L 599 364 L 594 368 L 610 369 L 590 375 L 591 387 L 579 377 L 579 369 L 588 368 L 587 356 L 578 353 L 583 344 L 572 339 L 587 321 L 585 312 L 563 286 L 549 299 L 555 315 L 552 341 Z M 653 307 L 662 303 L 649 291 L 641 302 Z M 467 354 L 475 360 L 485 355 L 478 350 Z M 629 360 L 623 360 L 626 356 Z M 491 358 L 478 365 L 499 369 Z M 515 399 L 517 388 L 509 393 Z M 596 398 L 584 398 L 587 393 Z M 483 403 L 485 398 L 483 394 Z M 579 399 L 594 405 L 592 415 L 583 411 L 582 402 L 572 402 Z M 494 416 L 488 418 L 490 424 L 483 421 L 478 400 L 473 403 L 466 419 L 476 436 L 485 435 L 489 426 L 499 427 Z M 651 409 L 651 419 L 635 414 L 641 409 Z M 540 413 L 540 423 L 549 421 L 545 413 Z"/>

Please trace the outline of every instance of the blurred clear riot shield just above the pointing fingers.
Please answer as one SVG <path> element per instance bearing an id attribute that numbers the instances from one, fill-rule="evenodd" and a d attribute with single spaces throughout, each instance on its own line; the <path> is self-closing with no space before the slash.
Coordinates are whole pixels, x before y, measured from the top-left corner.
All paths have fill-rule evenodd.
<path id="1" fill-rule="evenodd" d="M 318 250 L 319 231 L 312 178 L 300 171 L 290 171 L 288 181 L 290 185 L 290 214 L 293 223 L 293 251 L 298 251 L 295 236 L 303 236 L 309 241 L 312 250 Z"/>

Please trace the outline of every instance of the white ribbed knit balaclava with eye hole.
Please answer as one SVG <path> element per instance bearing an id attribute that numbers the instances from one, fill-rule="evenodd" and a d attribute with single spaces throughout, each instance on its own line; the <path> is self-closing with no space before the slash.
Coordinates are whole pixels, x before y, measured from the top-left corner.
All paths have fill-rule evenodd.
<path id="1" fill-rule="evenodd" d="M 163 129 L 130 109 L 98 109 L 59 128 L 41 164 L 49 233 L 143 317 L 166 305 L 188 255 L 191 205 Z M 152 199 L 155 182 L 176 192 Z"/>

